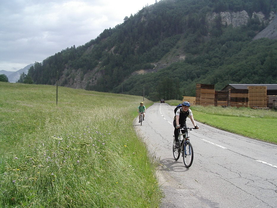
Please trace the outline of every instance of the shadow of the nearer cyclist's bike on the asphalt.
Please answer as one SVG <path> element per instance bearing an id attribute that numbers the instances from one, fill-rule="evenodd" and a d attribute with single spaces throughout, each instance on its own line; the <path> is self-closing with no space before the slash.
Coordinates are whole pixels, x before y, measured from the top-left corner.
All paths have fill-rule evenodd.
<path id="1" fill-rule="evenodd" d="M 184 172 L 189 170 L 189 168 L 186 168 L 184 165 L 183 157 L 181 157 L 181 155 L 177 161 L 172 158 L 167 158 L 160 160 L 160 163 L 162 165 L 161 171 Z"/>

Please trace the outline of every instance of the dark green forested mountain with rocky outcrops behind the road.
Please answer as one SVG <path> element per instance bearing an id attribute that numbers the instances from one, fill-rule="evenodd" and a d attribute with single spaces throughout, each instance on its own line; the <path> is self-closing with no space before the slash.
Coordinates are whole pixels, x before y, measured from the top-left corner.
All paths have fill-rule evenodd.
<path id="1" fill-rule="evenodd" d="M 276 0 L 162 0 L 85 45 L 72 46 L 28 76 L 150 100 L 195 96 L 196 83 L 277 83 L 277 40 L 253 40 L 276 17 Z"/>

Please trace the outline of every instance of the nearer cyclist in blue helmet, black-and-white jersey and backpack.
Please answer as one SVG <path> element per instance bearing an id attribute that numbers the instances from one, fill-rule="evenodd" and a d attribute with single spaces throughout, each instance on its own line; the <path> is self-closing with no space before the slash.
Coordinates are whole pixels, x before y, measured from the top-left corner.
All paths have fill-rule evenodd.
<path id="1" fill-rule="evenodd" d="M 186 127 L 186 118 L 189 117 L 194 128 L 199 129 L 199 127 L 195 124 L 195 121 L 193 119 L 193 115 L 191 112 L 191 109 L 189 109 L 190 103 L 185 101 L 182 103 L 182 107 L 178 108 L 176 111 L 176 114 L 174 116 L 173 120 L 173 126 L 174 126 L 174 136 L 175 141 L 178 141 L 179 137 L 179 127 Z M 181 130 L 182 133 L 185 133 L 185 130 Z M 185 136 L 185 135 L 183 135 Z M 175 143 L 175 148 L 179 148 L 179 142 Z"/>

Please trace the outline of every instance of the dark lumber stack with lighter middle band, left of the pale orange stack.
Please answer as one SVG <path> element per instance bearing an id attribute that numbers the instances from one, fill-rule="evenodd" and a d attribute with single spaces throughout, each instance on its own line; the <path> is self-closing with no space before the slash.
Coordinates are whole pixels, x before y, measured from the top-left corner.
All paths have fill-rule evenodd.
<path id="1" fill-rule="evenodd" d="M 248 89 L 229 89 L 228 106 L 248 107 Z"/>

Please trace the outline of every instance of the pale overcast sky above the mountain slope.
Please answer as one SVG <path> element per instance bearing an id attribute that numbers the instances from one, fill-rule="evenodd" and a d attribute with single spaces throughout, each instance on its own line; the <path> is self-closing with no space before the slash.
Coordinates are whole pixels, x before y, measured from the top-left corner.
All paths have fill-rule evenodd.
<path id="1" fill-rule="evenodd" d="M 0 70 L 84 45 L 155 0 L 0 0 Z"/>

